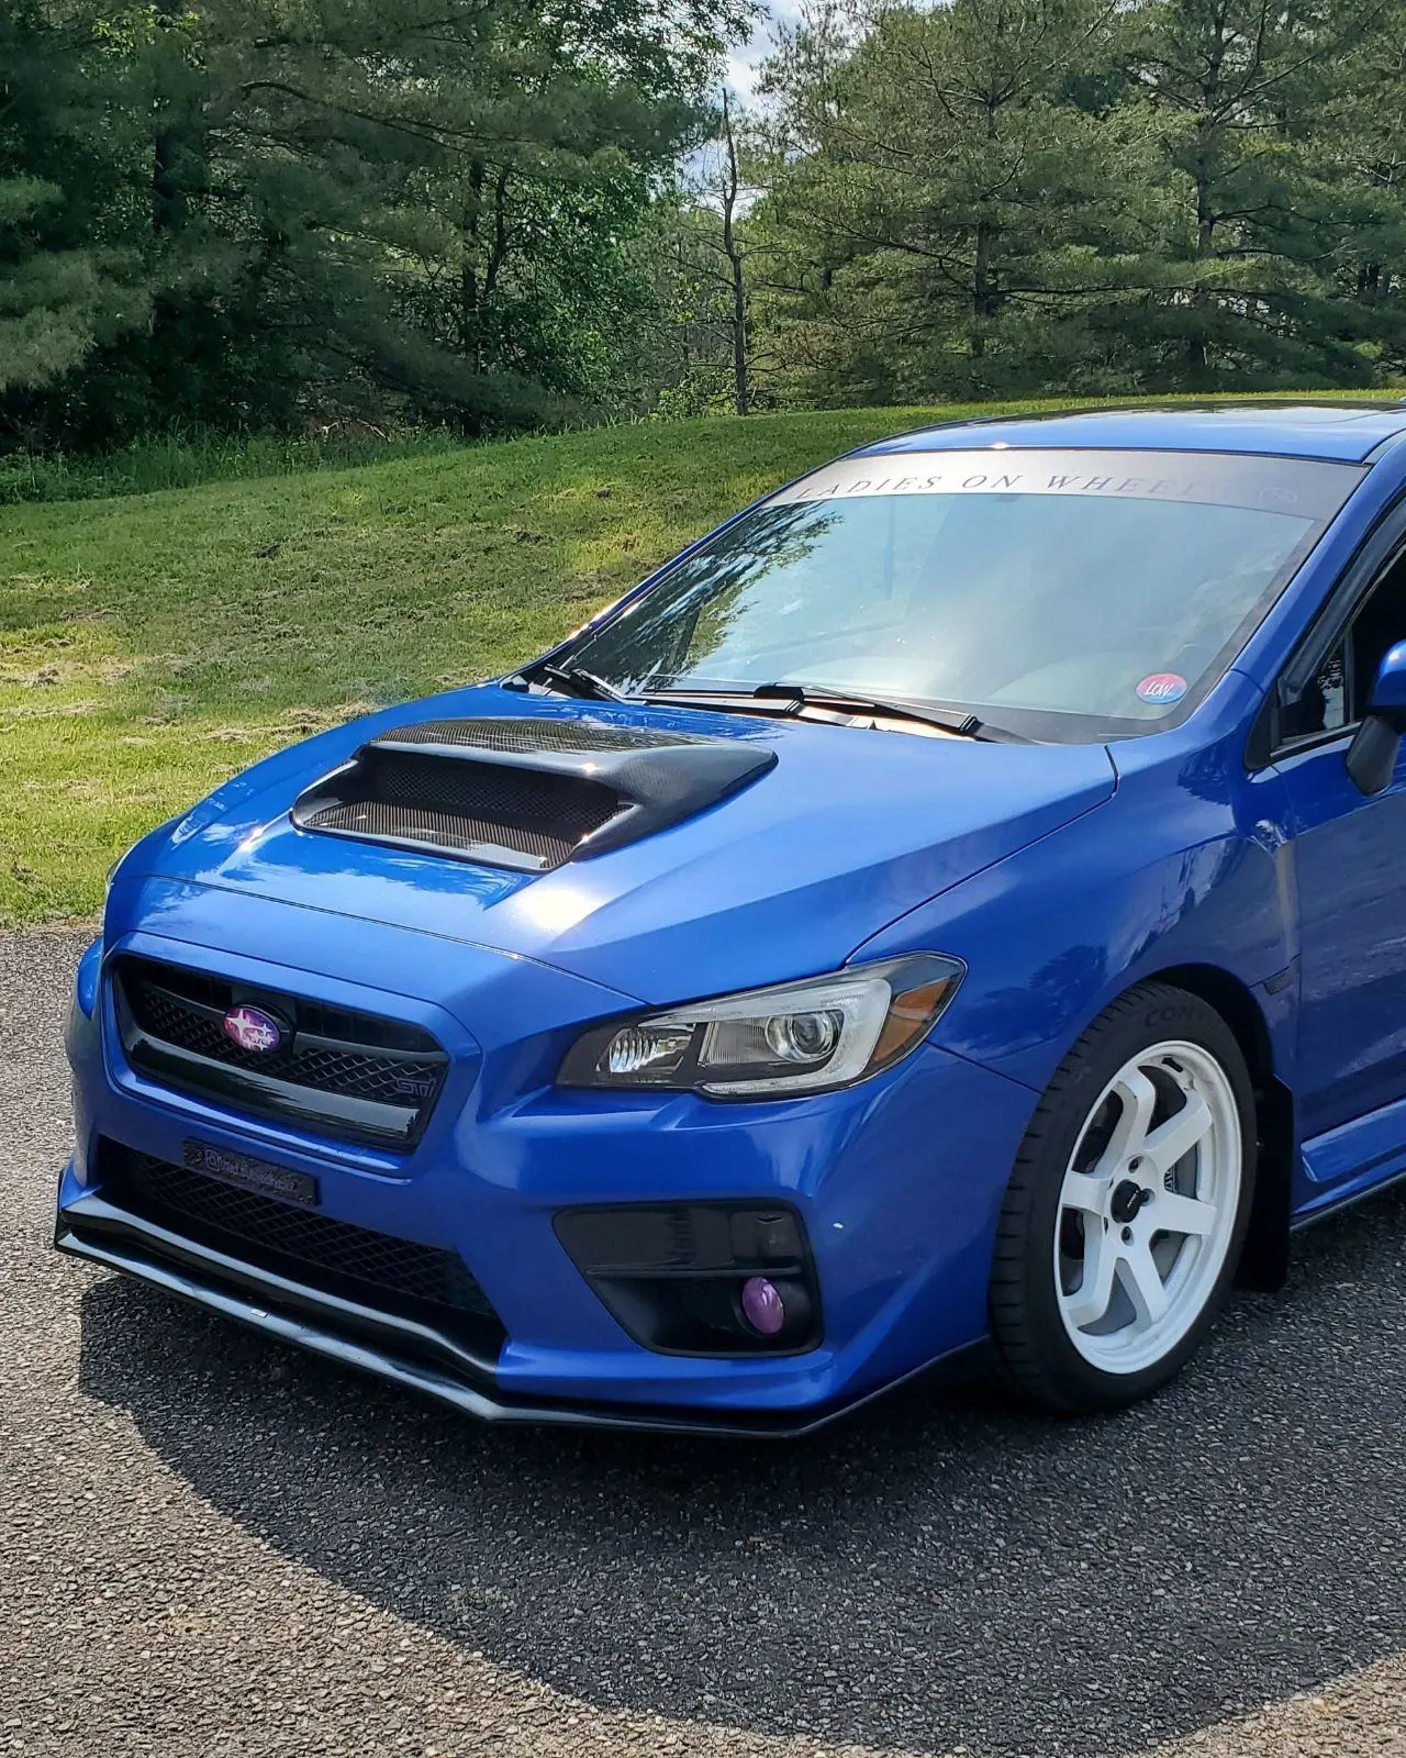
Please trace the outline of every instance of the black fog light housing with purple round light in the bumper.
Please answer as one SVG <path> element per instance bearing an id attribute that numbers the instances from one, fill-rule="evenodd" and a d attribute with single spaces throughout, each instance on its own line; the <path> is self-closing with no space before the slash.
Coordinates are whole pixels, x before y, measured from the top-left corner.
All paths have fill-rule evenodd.
<path id="1" fill-rule="evenodd" d="M 624 1331 L 663 1355 L 798 1355 L 821 1341 L 815 1266 L 782 1202 L 594 1204 L 555 1231 Z"/>

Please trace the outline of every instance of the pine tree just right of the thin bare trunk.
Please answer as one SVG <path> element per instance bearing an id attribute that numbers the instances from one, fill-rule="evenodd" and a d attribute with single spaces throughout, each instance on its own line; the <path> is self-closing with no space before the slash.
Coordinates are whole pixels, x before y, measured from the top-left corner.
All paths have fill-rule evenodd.
<path id="1" fill-rule="evenodd" d="M 768 69 L 765 218 L 793 241 L 789 325 L 823 392 L 902 399 L 1039 383 L 1081 359 L 1148 237 L 1146 141 L 1081 107 L 1111 69 L 1111 0 L 833 7 Z"/>

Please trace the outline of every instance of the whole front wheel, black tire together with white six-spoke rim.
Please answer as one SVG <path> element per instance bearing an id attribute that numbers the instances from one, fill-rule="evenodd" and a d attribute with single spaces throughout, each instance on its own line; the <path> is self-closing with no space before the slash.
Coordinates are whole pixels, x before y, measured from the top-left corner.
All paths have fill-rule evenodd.
<path id="1" fill-rule="evenodd" d="M 1120 995 L 1046 1088 L 1002 1202 L 989 1313 L 1011 1387 L 1091 1415 L 1174 1378 L 1225 1301 L 1253 1188 L 1227 1023 L 1165 983 Z"/>

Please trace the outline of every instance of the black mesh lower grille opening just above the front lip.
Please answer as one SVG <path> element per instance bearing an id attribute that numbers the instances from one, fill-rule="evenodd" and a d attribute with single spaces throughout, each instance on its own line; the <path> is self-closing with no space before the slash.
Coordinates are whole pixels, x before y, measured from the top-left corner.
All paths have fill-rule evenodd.
<path id="1" fill-rule="evenodd" d="M 279 1202 L 104 1141 L 102 1195 L 197 1245 L 362 1306 L 450 1329 L 496 1354 L 503 1322 L 457 1252 Z"/>

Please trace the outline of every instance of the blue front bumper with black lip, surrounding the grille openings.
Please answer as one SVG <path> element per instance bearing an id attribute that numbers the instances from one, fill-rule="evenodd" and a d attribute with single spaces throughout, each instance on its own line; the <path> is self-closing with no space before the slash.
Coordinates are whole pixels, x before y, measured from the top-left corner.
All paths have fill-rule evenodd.
<path id="1" fill-rule="evenodd" d="M 359 925 L 362 981 L 350 984 L 336 976 L 348 969 L 346 948 L 323 944 L 320 923 L 301 923 L 295 967 L 258 956 L 272 949 L 258 946 L 258 923 L 250 911 L 228 933 L 225 944 L 251 948 L 239 956 L 146 933 L 114 951 L 137 946 L 269 984 L 295 979 L 329 1002 L 404 1013 L 452 1055 L 467 1041 L 482 1072 L 467 1090 L 446 1088 L 424 1141 L 402 1159 L 237 1116 L 162 1092 L 123 1064 L 95 953 L 79 974 L 69 1037 L 77 1153 L 60 1188 L 60 1250 L 492 1420 L 800 1435 L 917 1371 L 958 1371 L 982 1341 L 997 1210 L 1033 1104 L 1023 1086 L 928 1046 L 858 1088 L 787 1104 L 569 1095 L 524 1083 L 524 1064 L 547 1042 L 543 1021 L 571 1020 L 575 1032 L 575 1021 L 608 1011 L 603 992 L 517 965 L 513 995 L 531 992 L 533 1030 L 524 1030 L 520 1014 L 482 995 L 496 979 L 487 962 L 499 955 L 480 953 L 476 963 L 460 955 L 450 992 L 443 946 Z M 541 1051 L 547 1062 L 557 1053 L 555 1042 Z M 515 1090 L 499 1093 L 497 1069 L 510 1071 Z M 227 1257 L 104 1192 L 100 1139 L 179 1162 L 192 1136 L 315 1176 L 329 1218 L 457 1252 L 503 1320 L 503 1348 L 476 1357 L 431 1326 Z M 554 1231 L 568 1208 L 684 1199 L 796 1210 L 821 1285 L 817 1347 L 752 1359 L 645 1348 Z"/>

